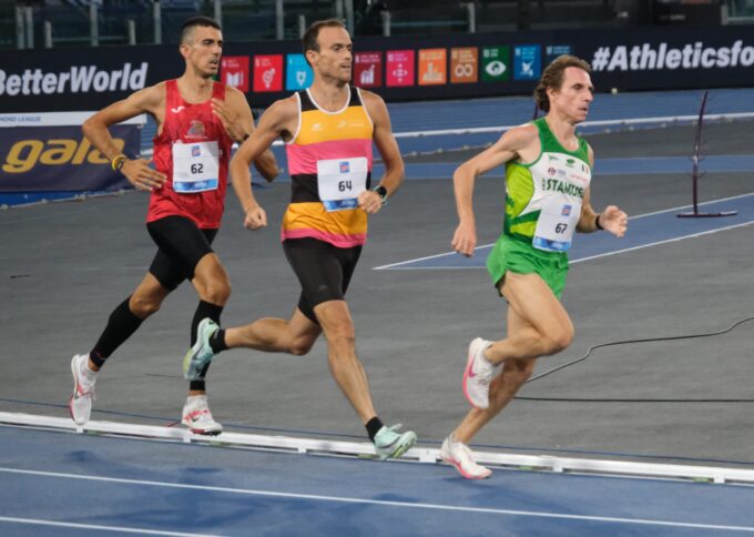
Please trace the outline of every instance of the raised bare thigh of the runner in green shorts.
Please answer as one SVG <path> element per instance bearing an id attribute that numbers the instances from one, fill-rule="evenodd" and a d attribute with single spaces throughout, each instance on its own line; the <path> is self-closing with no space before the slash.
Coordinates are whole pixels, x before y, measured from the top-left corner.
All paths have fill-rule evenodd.
<path id="1" fill-rule="evenodd" d="M 500 292 L 516 314 L 514 324 L 531 326 L 541 334 L 573 331 L 568 312 L 539 275 L 509 272 Z"/>

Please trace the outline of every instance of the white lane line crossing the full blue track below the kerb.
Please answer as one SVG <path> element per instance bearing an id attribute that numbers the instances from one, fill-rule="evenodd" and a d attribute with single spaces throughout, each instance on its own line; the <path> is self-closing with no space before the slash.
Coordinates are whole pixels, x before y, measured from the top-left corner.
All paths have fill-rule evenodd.
<path id="1" fill-rule="evenodd" d="M 754 527 L 751 526 L 728 526 L 728 525 L 717 525 L 717 524 L 695 524 L 695 523 L 683 523 L 673 520 L 654 520 L 648 518 L 620 518 L 620 517 L 600 517 L 590 515 L 568 515 L 563 513 L 548 513 L 548 511 L 531 511 L 531 510 L 516 510 L 516 509 L 493 509 L 489 507 L 463 507 L 455 505 L 442 505 L 442 504 L 421 504 L 411 501 L 393 501 L 384 499 L 369 499 L 369 498 L 348 498 L 342 496 L 323 496 L 318 494 L 299 494 L 299 493 L 278 493 L 274 490 L 257 490 L 247 488 L 231 488 L 231 487 L 214 487 L 206 485 L 186 485 L 182 483 L 166 483 L 166 482 L 152 482 L 142 479 L 123 479 L 120 477 L 100 477 L 100 476 L 85 476 L 78 474 L 63 474 L 57 472 L 38 472 L 38 470 L 26 470 L 17 468 L 4 468 L 0 467 L 0 472 L 7 474 L 22 474 L 32 475 L 41 477 L 61 477 L 67 479 L 83 479 L 92 482 L 105 482 L 105 483 L 119 483 L 124 485 L 141 485 L 141 486 L 153 486 L 153 487 L 165 487 L 165 488 L 181 488 L 188 490 L 202 490 L 212 493 L 225 493 L 225 494 L 240 494 L 245 496 L 267 496 L 274 498 L 287 498 L 287 499 L 306 499 L 316 501 L 333 501 L 340 504 L 360 504 L 360 505 L 378 505 L 388 507 L 405 507 L 409 509 L 430 509 L 430 510 L 446 510 L 446 511 L 460 511 L 460 513 L 480 513 L 486 515 L 507 515 L 507 516 L 523 516 L 523 517 L 534 517 L 534 518 L 558 518 L 567 520 L 590 520 L 600 523 L 613 523 L 613 524 L 626 524 L 626 525 L 640 525 L 640 526 L 664 526 L 664 527 L 681 527 L 681 528 L 693 528 L 693 529 L 719 529 L 728 531 L 748 531 L 754 533 Z"/>

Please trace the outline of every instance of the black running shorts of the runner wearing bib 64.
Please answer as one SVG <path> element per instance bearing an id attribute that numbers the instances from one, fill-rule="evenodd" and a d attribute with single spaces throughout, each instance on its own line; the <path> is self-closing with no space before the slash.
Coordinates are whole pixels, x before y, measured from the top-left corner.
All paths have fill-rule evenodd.
<path id="1" fill-rule="evenodd" d="M 361 255 L 361 246 L 339 249 L 317 239 L 305 237 L 284 241 L 283 250 L 303 287 L 298 308 L 316 323 L 316 305 L 339 301 L 345 296 Z"/>

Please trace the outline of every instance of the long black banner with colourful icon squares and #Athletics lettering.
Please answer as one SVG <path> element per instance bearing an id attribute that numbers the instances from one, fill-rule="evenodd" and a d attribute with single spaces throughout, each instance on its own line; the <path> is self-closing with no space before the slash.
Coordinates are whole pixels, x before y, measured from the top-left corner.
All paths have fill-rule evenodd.
<path id="1" fill-rule="evenodd" d="M 754 85 L 751 26 L 354 36 L 354 83 L 386 101 L 522 95 L 570 52 L 597 91 Z M 225 43 L 220 80 L 264 108 L 310 83 L 298 41 Z M 249 60 L 251 59 L 251 60 Z M 251 62 L 251 65 L 246 63 Z M 0 113 L 98 110 L 181 75 L 177 45 L 0 52 Z"/>

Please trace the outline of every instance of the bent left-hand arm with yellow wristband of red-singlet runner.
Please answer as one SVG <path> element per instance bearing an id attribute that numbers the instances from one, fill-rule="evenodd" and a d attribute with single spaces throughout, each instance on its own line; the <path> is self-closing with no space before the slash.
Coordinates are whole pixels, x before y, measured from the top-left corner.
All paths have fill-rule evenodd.
<path id="1" fill-rule="evenodd" d="M 84 121 L 81 130 L 92 145 L 112 162 L 115 156 L 122 154 L 123 146 L 115 143 L 109 126 L 142 113 L 151 114 L 160 123 L 164 107 L 165 87 L 164 83 L 160 83 L 105 107 Z M 126 159 L 120 171 L 136 189 L 149 191 L 159 189 L 167 178 L 150 168 L 150 162 L 152 159 Z"/>

